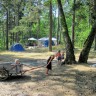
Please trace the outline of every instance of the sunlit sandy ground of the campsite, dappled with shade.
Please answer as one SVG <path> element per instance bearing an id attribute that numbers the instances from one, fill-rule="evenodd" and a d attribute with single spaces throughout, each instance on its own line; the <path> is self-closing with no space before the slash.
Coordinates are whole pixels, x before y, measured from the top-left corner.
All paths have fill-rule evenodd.
<path id="1" fill-rule="evenodd" d="M 19 58 L 24 64 L 36 67 L 46 65 L 50 54 L 53 53 L 1 52 L 0 62 Z M 93 61 L 95 63 L 96 58 Z M 45 70 L 45 67 L 41 67 L 23 76 L 0 81 L 0 96 L 96 96 L 96 68 L 88 64 L 60 66 L 54 59 L 48 76 Z"/>

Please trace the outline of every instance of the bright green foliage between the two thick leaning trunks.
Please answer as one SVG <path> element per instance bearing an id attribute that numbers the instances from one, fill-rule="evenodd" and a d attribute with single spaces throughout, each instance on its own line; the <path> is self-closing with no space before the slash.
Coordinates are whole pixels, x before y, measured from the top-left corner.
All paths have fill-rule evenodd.
<path id="1" fill-rule="evenodd" d="M 65 11 L 66 21 L 68 25 L 68 30 L 70 37 L 72 36 L 72 12 L 73 12 L 73 2 L 69 2 L 70 10 Z M 77 1 L 75 4 L 75 47 L 82 47 L 84 41 L 86 40 L 90 32 L 90 22 L 89 22 L 89 6 L 85 6 L 86 2 Z"/>

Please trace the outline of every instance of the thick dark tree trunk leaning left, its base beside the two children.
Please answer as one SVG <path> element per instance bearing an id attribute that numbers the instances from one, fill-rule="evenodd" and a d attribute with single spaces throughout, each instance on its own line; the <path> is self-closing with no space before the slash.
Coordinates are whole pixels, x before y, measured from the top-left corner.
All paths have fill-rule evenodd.
<path id="1" fill-rule="evenodd" d="M 62 7 L 62 4 L 61 4 L 61 0 L 57 0 L 57 2 L 58 2 L 58 5 L 59 5 L 59 11 L 60 11 L 60 14 L 61 14 L 61 24 L 62 24 L 62 27 L 63 27 L 62 32 L 63 32 L 63 38 L 64 38 L 65 46 L 66 46 L 66 58 L 65 58 L 64 63 L 66 63 L 66 64 L 76 63 L 74 50 L 73 50 L 73 45 L 72 45 L 71 39 L 70 39 L 69 34 L 68 34 L 68 27 L 67 27 L 67 24 L 66 24 L 66 19 L 65 19 L 64 12 L 63 12 L 63 7 Z"/>

